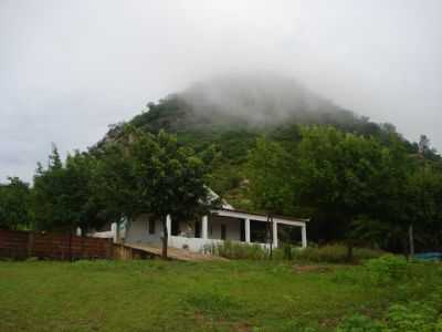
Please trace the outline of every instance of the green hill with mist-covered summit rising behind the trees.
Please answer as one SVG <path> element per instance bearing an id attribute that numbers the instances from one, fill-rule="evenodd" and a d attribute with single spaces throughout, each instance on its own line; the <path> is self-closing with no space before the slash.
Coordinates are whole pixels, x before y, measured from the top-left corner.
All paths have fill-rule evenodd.
<path id="1" fill-rule="evenodd" d="M 297 142 L 298 125 L 328 124 L 360 135 L 375 135 L 387 142 L 396 129 L 376 124 L 316 95 L 293 79 L 274 74 L 239 74 L 199 82 L 149 103 L 129 122 L 145 131 L 166 129 L 179 142 L 200 151 L 214 144 L 222 160 L 214 170 L 213 189 L 234 206 L 248 208 L 250 201 L 241 187 L 248 151 L 259 135 L 291 144 Z M 107 137 L 117 135 L 119 126 Z M 404 141 L 408 148 L 415 146 Z"/>

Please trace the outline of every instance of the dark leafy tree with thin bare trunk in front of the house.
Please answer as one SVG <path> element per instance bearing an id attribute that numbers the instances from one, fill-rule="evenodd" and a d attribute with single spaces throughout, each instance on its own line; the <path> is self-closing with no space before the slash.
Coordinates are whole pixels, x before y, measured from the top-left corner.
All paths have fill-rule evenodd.
<path id="1" fill-rule="evenodd" d="M 168 229 L 166 218 L 191 218 L 209 205 L 206 186 L 212 151 L 197 156 L 180 146 L 176 136 L 162 131 L 152 136 L 134 131 L 130 145 L 138 185 L 147 195 L 148 210 L 162 221 L 162 257 L 167 258 Z"/>

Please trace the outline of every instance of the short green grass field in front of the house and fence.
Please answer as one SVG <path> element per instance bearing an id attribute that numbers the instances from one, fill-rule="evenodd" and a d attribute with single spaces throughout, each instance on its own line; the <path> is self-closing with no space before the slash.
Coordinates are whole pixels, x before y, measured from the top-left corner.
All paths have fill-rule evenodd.
<path id="1" fill-rule="evenodd" d="M 334 331 L 344 317 L 376 318 L 425 292 L 369 287 L 359 273 L 270 261 L 3 261 L 0 331 Z"/>

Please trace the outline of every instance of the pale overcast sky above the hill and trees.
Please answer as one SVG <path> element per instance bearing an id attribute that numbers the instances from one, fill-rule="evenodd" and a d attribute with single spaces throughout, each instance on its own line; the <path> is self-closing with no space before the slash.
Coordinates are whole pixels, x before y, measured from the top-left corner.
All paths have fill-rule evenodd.
<path id="1" fill-rule="evenodd" d="M 0 180 L 149 101 L 265 70 L 442 151 L 442 1 L 0 0 Z"/>

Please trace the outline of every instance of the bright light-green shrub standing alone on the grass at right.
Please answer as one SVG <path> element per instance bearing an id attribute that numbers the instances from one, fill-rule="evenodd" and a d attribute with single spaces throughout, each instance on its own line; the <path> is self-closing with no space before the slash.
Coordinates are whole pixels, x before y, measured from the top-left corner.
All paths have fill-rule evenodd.
<path id="1" fill-rule="evenodd" d="M 396 255 L 385 255 L 365 263 L 373 283 L 388 283 L 404 279 L 407 264 L 408 262 L 403 257 Z"/>

